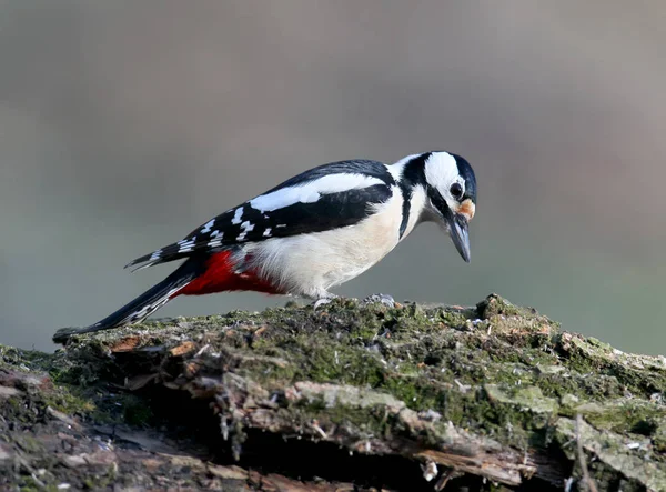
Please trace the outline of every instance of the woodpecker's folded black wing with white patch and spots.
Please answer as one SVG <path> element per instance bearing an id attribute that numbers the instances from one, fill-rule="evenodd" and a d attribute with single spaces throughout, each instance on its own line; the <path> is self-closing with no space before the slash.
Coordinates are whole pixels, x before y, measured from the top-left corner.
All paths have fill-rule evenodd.
<path id="1" fill-rule="evenodd" d="M 196 228 L 183 240 L 130 262 L 141 270 L 198 252 L 334 230 L 374 212 L 393 193 L 393 177 L 375 161 L 342 161 L 305 171 Z"/>

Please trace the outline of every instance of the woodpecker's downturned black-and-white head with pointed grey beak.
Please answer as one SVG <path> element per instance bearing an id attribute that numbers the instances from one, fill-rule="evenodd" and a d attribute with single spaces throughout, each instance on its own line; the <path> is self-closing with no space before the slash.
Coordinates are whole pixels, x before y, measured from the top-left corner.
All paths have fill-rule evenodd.
<path id="1" fill-rule="evenodd" d="M 470 163 L 448 152 L 428 152 L 424 160 L 426 210 L 470 262 L 468 223 L 476 209 L 476 177 Z"/>

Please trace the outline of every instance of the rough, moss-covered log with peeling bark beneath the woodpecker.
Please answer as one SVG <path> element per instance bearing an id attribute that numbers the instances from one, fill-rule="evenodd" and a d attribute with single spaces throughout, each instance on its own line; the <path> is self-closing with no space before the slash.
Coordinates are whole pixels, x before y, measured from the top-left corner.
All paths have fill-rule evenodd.
<path id="1" fill-rule="evenodd" d="M 496 295 L 162 320 L 0 347 L 0 488 L 666 490 L 665 392 Z"/>

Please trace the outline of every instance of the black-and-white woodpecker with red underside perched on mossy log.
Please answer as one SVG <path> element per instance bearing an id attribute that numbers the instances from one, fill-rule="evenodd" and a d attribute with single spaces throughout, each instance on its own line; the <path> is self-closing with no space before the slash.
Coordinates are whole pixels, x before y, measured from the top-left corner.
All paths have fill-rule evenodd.
<path id="1" fill-rule="evenodd" d="M 185 260 L 127 305 L 68 335 L 140 322 L 178 295 L 260 291 L 313 299 L 316 307 L 335 297 L 329 289 L 370 269 L 424 221 L 441 224 L 468 262 L 475 207 L 474 171 L 453 153 L 320 165 L 125 265 Z"/>

